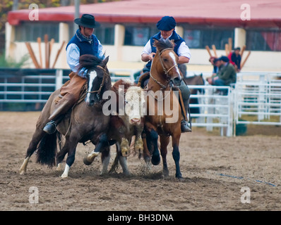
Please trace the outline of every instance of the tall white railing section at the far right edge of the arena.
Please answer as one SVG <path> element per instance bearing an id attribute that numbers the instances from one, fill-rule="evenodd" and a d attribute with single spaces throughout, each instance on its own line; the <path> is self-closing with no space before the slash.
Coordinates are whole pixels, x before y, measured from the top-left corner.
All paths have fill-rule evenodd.
<path id="1" fill-rule="evenodd" d="M 281 82 L 237 82 L 234 123 L 281 125 Z"/>

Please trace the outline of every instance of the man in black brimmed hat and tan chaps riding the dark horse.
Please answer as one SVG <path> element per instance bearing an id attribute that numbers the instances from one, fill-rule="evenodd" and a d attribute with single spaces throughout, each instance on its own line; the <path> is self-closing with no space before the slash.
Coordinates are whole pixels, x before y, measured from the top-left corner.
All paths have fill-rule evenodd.
<path id="1" fill-rule="evenodd" d="M 95 21 L 95 17 L 90 14 L 83 14 L 81 18 L 76 18 L 74 23 L 79 25 L 72 39 L 66 46 L 66 60 L 72 72 L 69 74 L 70 82 L 61 87 L 62 98 L 57 102 L 56 110 L 50 115 L 49 121 L 44 127 L 47 134 L 56 131 L 58 124 L 64 114 L 78 101 L 80 91 L 85 84 L 85 72 L 77 73 L 79 58 L 85 54 L 104 58 L 102 53 L 102 44 L 97 39 L 94 32 L 95 27 L 99 27 L 100 23 Z"/>

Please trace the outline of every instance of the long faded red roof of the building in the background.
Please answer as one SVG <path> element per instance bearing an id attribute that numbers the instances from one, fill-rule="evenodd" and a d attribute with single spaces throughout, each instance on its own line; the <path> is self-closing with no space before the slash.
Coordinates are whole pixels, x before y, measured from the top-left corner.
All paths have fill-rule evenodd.
<path id="1" fill-rule="evenodd" d="M 241 20 L 244 9 L 250 6 L 251 20 Z M 73 21 L 74 6 L 40 8 L 40 21 Z M 281 28 L 280 0 L 124 0 L 80 5 L 80 14 L 95 15 L 99 22 L 157 23 L 164 15 L 172 15 L 177 23 L 195 25 L 232 25 L 238 27 Z M 29 20 L 30 10 L 10 11 L 8 23 L 18 25 Z"/>

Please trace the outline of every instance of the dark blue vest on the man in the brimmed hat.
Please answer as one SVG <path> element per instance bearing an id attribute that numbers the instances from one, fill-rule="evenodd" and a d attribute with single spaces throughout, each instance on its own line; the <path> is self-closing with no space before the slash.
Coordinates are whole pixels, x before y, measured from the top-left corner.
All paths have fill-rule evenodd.
<path id="1" fill-rule="evenodd" d="M 66 49 L 69 44 L 76 44 L 80 50 L 80 56 L 83 56 L 85 54 L 90 54 L 92 56 L 97 56 L 99 41 L 97 40 L 97 37 L 95 37 L 94 34 L 92 34 L 92 43 L 90 43 L 88 40 L 83 38 L 83 36 L 80 34 L 79 30 L 76 31 L 74 36 L 71 38 L 71 40 L 68 42 Z"/>

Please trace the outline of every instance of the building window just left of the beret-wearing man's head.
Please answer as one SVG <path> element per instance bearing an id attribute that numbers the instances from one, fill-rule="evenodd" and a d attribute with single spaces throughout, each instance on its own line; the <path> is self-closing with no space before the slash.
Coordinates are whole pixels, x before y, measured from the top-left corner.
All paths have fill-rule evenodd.
<path id="1" fill-rule="evenodd" d="M 124 45 L 145 46 L 150 37 L 157 34 L 159 30 L 153 27 L 125 27 Z"/>

